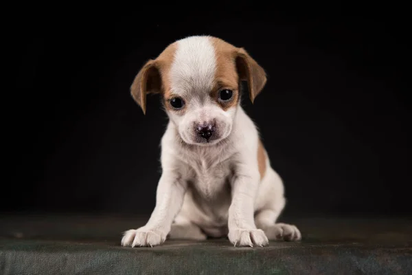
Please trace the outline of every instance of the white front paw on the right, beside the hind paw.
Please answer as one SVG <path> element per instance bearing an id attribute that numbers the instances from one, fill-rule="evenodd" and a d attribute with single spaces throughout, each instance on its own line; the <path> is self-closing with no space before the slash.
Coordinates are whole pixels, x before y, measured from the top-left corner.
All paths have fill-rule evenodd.
<path id="1" fill-rule="evenodd" d="M 264 232 L 260 229 L 241 229 L 229 230 L 229 241 L 235 246 L 264 246 L 269 241 Z"/>

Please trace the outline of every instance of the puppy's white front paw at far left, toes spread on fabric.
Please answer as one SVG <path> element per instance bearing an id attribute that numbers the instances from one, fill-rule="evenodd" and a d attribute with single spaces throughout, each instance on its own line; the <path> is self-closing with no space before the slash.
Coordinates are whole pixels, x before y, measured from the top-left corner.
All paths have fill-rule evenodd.
<path id="1" fill-rule="evenodd" d="M 165 234 L 158 230 L 148 230 L 146 228 L 139 228 L 137 230 L 130 229 L 124 232 L 122 239 L 122 246 L 150 246 L 160 245 L 165 241 Z"/>

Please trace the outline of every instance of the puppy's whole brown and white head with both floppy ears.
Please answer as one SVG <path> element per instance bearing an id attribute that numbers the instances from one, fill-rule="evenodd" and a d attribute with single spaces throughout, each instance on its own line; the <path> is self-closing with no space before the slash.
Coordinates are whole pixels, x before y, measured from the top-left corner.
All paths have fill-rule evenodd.
<path id="1" fill-rule="evenodd" d="M 146 94 L 161 93 L 181 139 L 209 145 L 231 133 L 242 80 L 253 102 L 266 74 L 243 48 L 211 36 L 190 36 L 148 61 L 133 81 L 131 94 L 146 113 Z"/>

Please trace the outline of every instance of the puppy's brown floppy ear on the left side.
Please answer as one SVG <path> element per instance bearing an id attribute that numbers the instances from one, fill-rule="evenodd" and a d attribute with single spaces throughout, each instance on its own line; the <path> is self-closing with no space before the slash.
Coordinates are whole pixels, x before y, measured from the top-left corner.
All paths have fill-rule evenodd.
<path id="1" fill-rule="evenodd" d="M 135 80 L 133 80 L 130 92 L 143 113 L 146 114 L 146 94 L 160 93 L 160 91 L 161 76 L 159 68 L 156 61 L 150 60 L 140 69 Z"/>

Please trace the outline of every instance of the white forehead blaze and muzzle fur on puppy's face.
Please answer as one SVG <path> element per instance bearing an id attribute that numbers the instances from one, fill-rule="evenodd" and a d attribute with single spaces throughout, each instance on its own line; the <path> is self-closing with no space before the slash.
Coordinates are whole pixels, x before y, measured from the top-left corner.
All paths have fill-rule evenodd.
<path id="1" fill-rule="evenodd" d="M 170 69 L 172 93 L 185 99 L 186 115 L 168 113 L 170 120 L 178 125 L 177 130 L 187 144 L 195 144 L 193 124 L 216 120 L 220 126 L 221 139 L 231 131 L 233 110 L 223 111 L 212 104 L 209 91 L 214 87 L 216 56 L 207 36 L 191 36 L 177 42 L 174 61 Z M 211 143 L 216 143 L 214 140 Z"/>

